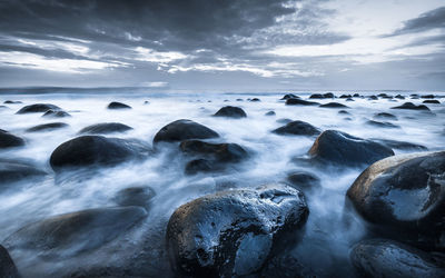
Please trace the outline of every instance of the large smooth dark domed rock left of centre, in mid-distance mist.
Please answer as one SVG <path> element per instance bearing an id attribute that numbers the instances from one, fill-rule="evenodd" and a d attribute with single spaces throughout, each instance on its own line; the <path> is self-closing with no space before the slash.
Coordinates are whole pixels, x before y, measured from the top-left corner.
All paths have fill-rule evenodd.
<path id="1" fill-rule="evenodd" d="M 51 153 L 50 163 L 56 171 L 68 167 L 117 165 L 141 158 L 148 152 L 148 147 L 136 140 L 81 136 L 57 147 Z"/>

